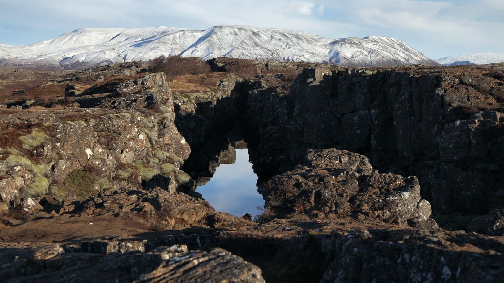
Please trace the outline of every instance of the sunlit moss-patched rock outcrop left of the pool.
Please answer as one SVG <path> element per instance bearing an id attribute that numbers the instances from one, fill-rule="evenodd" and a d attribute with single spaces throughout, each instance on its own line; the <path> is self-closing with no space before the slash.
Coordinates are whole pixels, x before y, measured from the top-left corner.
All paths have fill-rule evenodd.
<path id="1" fill-rule="evenodd" d="M 138 74 L 145 68 L 136 65 L 116 68 L 108 72 L 124 77 L 107 83 L 113 95 L 100 97 L 93 108 L 28 110 L 2 116 L 0 195 L 7 207 L 21 205 L 33 212 L 35 206 L 30 203 L 38 204 L 48 196 L 55 200 L 53 206 L 69 212 L 76 207 L 73 201 L 115 190 L 128 193 L 160 186 L 175 192 L 193 186 L 191 177 L 179 170 L 191 150 L 174 124 L 165 75 Z M 105 80 L 106 69 L 62 80 L 82 82 L 95 76 Z M 132 74 L 135 78 L 130 79 Z M 75 99 L 82 102 L 95 94 L 88 91 Z"/>

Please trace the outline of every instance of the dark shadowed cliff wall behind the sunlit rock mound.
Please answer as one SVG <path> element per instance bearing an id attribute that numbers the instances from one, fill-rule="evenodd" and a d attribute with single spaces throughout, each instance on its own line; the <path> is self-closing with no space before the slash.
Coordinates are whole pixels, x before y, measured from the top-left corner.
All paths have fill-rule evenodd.
<path id="1" fill-rule="evenodd" d="M 346 149 L 381 172 L 418 176 L 438 213 L 502 207 L 502 70 L 468 68 L 307 68 L 284 92 L 263 79 L 244 123 L 260 136 L 248 137 L 255 168 L 268 179 L 307 149 Z"/>

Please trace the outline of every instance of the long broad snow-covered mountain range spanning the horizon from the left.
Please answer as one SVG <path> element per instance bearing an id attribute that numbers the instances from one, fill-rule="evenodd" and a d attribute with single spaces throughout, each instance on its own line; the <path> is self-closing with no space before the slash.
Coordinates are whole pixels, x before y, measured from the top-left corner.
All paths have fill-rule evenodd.
<path id="1" fill-rule="evenodd" d="M 233 57 L 353 67 L 437 65 L 393 38 L 330 39 L 303 32 L 227 25 L 203 31 L 173 27 L 84 28 L 30 45 L 0 44 L 0 66 L 77 69 L 174 54 L 205 60 Z"/>

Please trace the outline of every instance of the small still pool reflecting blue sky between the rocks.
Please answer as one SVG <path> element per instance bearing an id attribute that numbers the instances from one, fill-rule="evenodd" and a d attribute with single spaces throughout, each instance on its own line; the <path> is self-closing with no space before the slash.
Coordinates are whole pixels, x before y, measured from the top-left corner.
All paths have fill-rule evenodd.
<path id="1" fill-rule="evenodd" d="M 257 207 L 264 205 L 263 196 L 257 191 L 257 179 L 247 150 L 236 150 L 235 163 L 219 165 L 210 181 L 198 186 L 197 191 L 216 211 L 234 216 L 249 213 L 254 217 L 262 213 Z"/>

